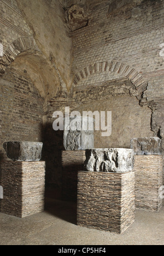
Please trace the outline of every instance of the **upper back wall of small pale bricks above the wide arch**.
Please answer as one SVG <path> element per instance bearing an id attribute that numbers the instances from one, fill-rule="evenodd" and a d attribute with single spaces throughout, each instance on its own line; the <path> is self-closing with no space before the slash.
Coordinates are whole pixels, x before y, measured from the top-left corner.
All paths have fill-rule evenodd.
<path id="1" fill-rule="evenodd" d="M 158 92 L 158 84 L 164 72 L 164 59 L 160 56 L 160 44 L 164 42 L 163 1 L 144 0 L 136 7 L 126 5 L 109 13 L 112 2 L 90 3 L 89 25 L 72 32 L 73 72 L 77 74 L 96 62 L 125 63 L 136 69 L 145 82 L 153 84 L 153 88 L 148 87 L 151 97 L 161 97 L 163 88 L 161 86 Z M 115 72 L 110 78 L 118 79 L 120 74 Z M 85 89 L 89 83 L 98 81 L 101 85 L 106 79 L 109 77 L 97 73 L 80 80 L 77 86 Z"/>

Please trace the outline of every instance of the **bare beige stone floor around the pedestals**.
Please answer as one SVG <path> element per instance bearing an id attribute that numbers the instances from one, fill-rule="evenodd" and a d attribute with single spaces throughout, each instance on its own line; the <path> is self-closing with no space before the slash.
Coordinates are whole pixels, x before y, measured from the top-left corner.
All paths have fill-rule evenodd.
<path id="1" fill-rule="evenodd" d="M 164 245 L 164 207 L 136 211 L 136 222 L 122 235 L 77 226 L 75 204 L 54 199 L 24 219 L 0 213 L 0 223 L 0 245 Z"/>

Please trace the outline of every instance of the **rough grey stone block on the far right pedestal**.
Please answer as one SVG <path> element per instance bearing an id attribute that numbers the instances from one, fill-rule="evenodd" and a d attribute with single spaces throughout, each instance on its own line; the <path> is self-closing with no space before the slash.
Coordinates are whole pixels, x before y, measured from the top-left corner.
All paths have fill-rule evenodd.
<path id="1" fill-rule="evenodd" d="M 133 138 L 131 149 L 135 155 L 161 155 L 162 141 L 158 137 Z"/>

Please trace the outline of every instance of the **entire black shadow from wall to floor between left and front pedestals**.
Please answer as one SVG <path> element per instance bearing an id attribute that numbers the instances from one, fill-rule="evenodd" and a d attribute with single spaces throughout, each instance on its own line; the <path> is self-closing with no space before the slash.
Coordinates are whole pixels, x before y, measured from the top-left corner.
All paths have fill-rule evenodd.
<path id="1" fill-rule="evenodd" d="M 69 223 L 77 224 L 77 183 L 80 166 L 62 168 L 63 131 L 54 131 L 52 123 L 42 126 L 45 161 L 45 211 Z"/>

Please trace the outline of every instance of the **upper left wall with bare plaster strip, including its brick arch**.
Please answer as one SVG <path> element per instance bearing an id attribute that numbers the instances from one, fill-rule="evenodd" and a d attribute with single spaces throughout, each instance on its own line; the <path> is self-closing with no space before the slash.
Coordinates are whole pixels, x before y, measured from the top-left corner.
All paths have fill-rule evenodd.
<path id="1" fill-rule="evenodd" d="M 0 77 L 20 54 L 40 54 L 40 64 L 33 68 L 50 89 L 46 95 L 54 97 L 60 86 L 67 90 L 72 81 L 72 39 L 67 35 L 60 2 L 39 1 L 38 5 L 37 1 L 2 0 L 0 12 Z M 45 66 L 46 71 L 37 66 Z"/>

